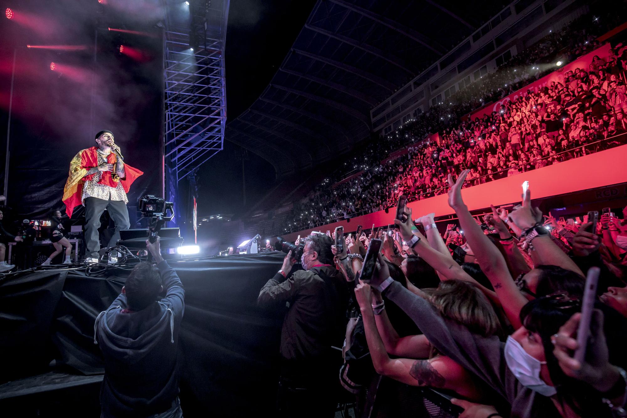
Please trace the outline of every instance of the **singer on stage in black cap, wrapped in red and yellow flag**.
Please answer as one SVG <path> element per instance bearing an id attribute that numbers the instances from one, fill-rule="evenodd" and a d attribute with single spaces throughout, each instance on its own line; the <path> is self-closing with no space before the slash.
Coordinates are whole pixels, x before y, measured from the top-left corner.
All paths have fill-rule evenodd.
<path id="1" fill-rule="evenodd" d="M 85 257 L 88 262 L 98 262 L 98 227 L 105 209 L 115 222 L 115 233 L 108 247 L 113 247 L 120 239 L 120 230 L 130 227 L 126 193 L 144 172 L 124 164 L 124 158 L 119 156 L 122 154 L 113 141 L 113 132 L 104 130 L 96 134 L 96 146 L 83 149 L 70 162 L 63 203 L 70 218 L 76 206 L 85 206 Z"/>

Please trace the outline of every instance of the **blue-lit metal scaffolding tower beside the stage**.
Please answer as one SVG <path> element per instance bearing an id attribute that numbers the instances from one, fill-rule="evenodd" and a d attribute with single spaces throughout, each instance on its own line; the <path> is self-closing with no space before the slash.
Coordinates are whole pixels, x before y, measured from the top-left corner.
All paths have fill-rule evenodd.
<path id="1" fill-rule="evenodd" d="M 223 149 L 229 0 L 164 4 L 164 192 L 180 220 L 192 196 L 177 196 L 179 181 Z"/>

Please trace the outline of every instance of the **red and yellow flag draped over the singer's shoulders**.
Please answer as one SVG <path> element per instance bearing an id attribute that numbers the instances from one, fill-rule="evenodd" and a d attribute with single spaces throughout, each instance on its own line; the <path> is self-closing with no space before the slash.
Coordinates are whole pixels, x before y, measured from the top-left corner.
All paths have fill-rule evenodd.
<path id="1" fill-rule="evenodd" d="M 65 213 L 67 213 L 70 218 L 72 217 L 74 208 L 83 203 L 83 184 L 85 184 L 87 180 L 92 180 L 93 176 L 97 174 L 94 173 L 85 176 L 90 168 L 98 166 L 97 149 L 98 147 L 83 149 L 70 161 L 70 176 L 68 176 L 68 181 L 65 183 L 65 188 L 63 189 Z M 107 156 L 107 163 L 115 164 L 116 161 L 117 156 L 115 153 L 111 153 Z M 133 184 L 135 179 L 144 174 L 144 171 L 132 168 L 129 164 L 124 164 L 124 171 L 126 178 L 120 178 L 116 173 L 112 173 L 111 171 L 102 171 L 98 184 L 116 187 L 118 182 L 121 181 L 124 191 L 129 193 L 130 185 Z"/>

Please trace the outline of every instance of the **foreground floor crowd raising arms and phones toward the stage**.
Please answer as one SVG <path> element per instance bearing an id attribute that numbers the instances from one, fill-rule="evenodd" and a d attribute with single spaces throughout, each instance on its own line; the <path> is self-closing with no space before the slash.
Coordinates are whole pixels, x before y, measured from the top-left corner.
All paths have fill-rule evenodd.
<path id="1" fill-rule="evenodd" d="M 469 174 L 448 176 L 459 225 L 448 225 L 444 237 L 434 213 L 413 221 L 419 214 L 406 209 L 394 221 L 398 232 L 362 233 L 345 238 L 341 251 L 332 247 L 354 308 L 342 385 L 358 400 L 377 375 L 387 385 L 443 390 L 466 418 L 624 416 L 627 207 L 623 219 L 598 208 L 597 223 L 557 220 L 534 207 L 528 191 L 510 212 L 492 206 L 478 220 L 462 196 Z M 376 271 L 361 281 L 377 236 Z M 576 360 L 591 267 L 600 271 L 598 289 L 586 353 Z M 386 398 L 377 394 L 371 416 L 419 416 L 424 409 L 399 409 L 399 397 L 404 408 L 422 402 L 405 385 L 379 384 Z"/>

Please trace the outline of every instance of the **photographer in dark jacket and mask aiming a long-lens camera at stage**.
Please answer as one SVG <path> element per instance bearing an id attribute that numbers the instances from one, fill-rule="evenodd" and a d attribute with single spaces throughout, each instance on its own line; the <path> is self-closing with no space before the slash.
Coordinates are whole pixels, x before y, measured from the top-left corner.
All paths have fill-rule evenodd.
<path id="1" fill-rule="evenodd" d="M 303 242 L 304 270 L 288 277 L 296 262 L 288 252 L 283 267 L 261 288 L 257 304 L 278 308 L 289 303 L 281 331 L 279 416 L 330 417 L 342 363 L 332 346 L 342 346 L 344 340 L 348 291 L 332 265 L 332 239 L 316 233 Z"/>

